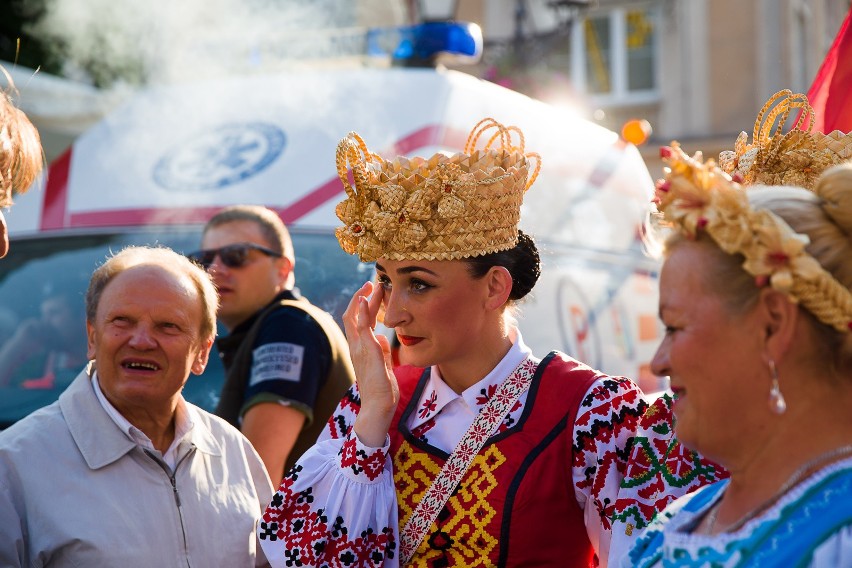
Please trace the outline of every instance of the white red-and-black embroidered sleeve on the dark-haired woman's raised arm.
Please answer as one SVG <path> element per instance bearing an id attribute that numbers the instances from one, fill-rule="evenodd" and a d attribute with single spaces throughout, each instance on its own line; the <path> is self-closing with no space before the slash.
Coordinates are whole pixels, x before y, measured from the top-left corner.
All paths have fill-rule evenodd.
<path id="1" fill-rule="evenodd" d="M 359 408 L 353 386 L 261 517 L 258 537 L 273 567 L 398 566 L 389 443 L 369 448 L 358 440 Z"/>

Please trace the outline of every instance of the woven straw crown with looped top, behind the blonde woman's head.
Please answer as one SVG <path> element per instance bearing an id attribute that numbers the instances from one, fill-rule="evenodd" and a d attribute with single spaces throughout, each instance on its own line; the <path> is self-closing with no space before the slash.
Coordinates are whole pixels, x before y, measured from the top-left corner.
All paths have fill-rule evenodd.
<path id="1" fill-rule="evenodd" d="M 796 123 L 783 133 L 793 112 L 798 112 Z M 745 185 L 813 189 L 824 170 L 852 159 L 852 132 L 812 132 L 813 119 L 814 110 L 805 95 L 789 89 L 779 91 L 758 113 L 752 143 L 748 144 L 748 134 L 741 132 L 734 150 L 719 154 L 719 166 Z"/>

